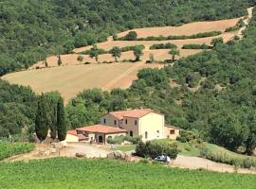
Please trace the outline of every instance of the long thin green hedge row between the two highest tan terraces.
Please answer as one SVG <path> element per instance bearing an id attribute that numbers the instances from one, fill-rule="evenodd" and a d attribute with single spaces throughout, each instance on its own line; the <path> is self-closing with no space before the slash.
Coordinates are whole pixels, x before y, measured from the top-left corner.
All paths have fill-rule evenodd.
<path id="1" fill-rule="evenodd" d="M 132 32 L 132 31 L 131 31 Z M 135 32 L 135 31 L 133 31 Z M 135 32 L 136 33 L 136 32 Z M 190 36 L 149 36 L 146 38 L 137 38 L 137 35 L 133 35 L 133 38 L 130 37 L 130 32 L 121 38 L 118 38 L 118 41 L 167 41 L 167 40 L 188 40 L 188 39 L 197 39 L 197 38 L 208 38 L 208 37 L 214 37 L 214 36 L 218 36 L 222 34 L 221 31 L 209 31 L 209 32 L 204 32 L 204 33 L 197 33 L 197 34 L 193 34 Z"/>

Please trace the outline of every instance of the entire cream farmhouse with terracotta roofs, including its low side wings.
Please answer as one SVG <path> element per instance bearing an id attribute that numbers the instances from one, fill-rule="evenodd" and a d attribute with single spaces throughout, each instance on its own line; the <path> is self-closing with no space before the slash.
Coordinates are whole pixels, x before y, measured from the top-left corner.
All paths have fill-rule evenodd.
<path id="1" fill-rule="evenodd" d="M 179 129 L 165 126 L 164 115 L 151 109 L 135 109 L 109 112 L 101 117 L 99 125 L 69 130 L 66 142 L 107 143 L 108 138 L 115 136 L 141 136 L 142 141 L 170 138 L 176 139 Z"/>

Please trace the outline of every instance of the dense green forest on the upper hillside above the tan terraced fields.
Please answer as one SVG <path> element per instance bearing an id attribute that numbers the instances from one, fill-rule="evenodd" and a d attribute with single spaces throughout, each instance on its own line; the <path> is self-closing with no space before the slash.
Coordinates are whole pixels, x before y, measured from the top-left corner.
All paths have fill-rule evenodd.
<path id="1" fill-rule="evenodd" d="M 252 0 L 250 0 L 252 1 Z M 0 76 L 118 31 L 245 15 L 248 0 L 2 0 Z M 196 9 L 196 11 L 194 11 Z"/>

